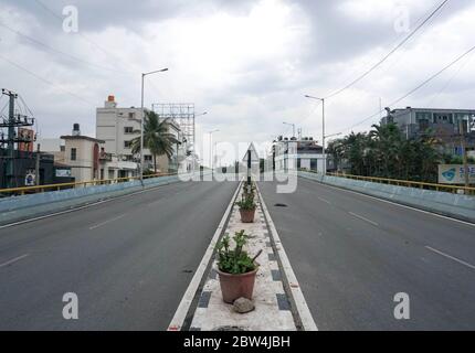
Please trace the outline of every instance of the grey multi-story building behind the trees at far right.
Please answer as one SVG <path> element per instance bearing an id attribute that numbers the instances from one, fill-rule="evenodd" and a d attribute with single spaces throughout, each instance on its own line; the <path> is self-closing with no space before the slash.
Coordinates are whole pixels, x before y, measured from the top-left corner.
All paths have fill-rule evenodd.
<path id="1" fill-rule="evenodd" d="M 381 124 L 395 124 L 408 139 L 430 132 L 443 142 L 446 153 L 461 154 L 461 136 L 465 136 L 467 150 L 475 149 L 475 110 L 407 107 L 387 111 Z"/>

